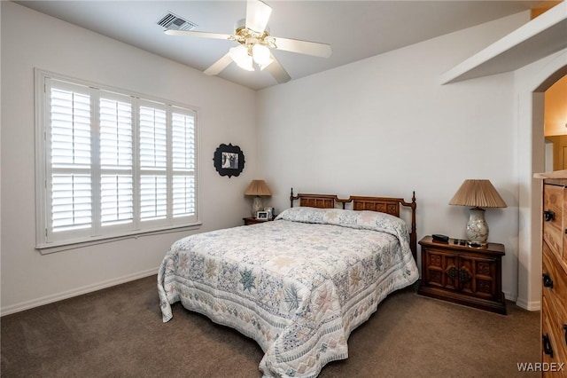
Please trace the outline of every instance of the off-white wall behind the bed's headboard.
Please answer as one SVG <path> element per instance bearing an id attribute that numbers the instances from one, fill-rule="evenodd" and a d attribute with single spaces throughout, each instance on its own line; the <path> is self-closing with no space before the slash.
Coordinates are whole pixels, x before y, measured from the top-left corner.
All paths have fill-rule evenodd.
<path id="1" fill-rule="evenodd" d="M 439 85 L 439 76 L 527 21 L 518 14 L 260 91 L 259 157 L 274 183 L 339 196 L 417 197 L 418 239 L 464 238 L 468 209 L 448 201 L 466 178 L 488 178 L 507 209 L 487 209 L 489 240 L 506 246 L 503 291 L 517 296 L 514 75 Z"/>

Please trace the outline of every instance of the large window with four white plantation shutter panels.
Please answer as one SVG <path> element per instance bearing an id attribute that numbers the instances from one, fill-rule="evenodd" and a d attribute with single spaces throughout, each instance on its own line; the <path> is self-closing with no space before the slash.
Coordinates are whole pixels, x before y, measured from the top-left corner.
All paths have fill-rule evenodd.
<path id="1" fill-rule="evenodd" d="M 37 248 L 197 224 L 197 114 L 36 73 Z"/>

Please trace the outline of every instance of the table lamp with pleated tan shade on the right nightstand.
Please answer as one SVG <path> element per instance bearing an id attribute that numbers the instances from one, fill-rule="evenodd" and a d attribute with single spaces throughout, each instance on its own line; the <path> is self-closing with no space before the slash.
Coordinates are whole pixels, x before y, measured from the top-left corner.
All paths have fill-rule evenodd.
<path id="1" fill-rule="evenodd" d="M 485 247 L 488 240 L 488 224 L 485 209 L 506 208 L 506 202 L 489 180 L 464 180 L 461 187 L 449 201 L 449 205 L 470 206 L 467 238 L 470 247 Z"/>

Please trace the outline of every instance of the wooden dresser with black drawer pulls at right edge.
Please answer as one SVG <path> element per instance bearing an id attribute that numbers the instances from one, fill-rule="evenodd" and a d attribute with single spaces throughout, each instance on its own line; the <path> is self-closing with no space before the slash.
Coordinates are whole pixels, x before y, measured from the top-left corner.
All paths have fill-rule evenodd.
<path id="1" fill-rule="evenodd" d="M 567 171 L 562 172 L 536 175 L 544 178 L 541 350 L 549 366 L 567 366 Z"/>

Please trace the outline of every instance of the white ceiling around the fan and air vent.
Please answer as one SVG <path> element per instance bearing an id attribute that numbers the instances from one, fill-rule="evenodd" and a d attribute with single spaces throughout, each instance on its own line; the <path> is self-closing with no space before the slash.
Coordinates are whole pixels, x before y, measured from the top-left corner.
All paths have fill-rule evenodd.
<path id="1" fill-rule="evenodd" d="M 303 1 L 265 0 L 272 7 L 270 35 L 330 43 L 329 59 L 274 51 L 291 80 L 392 51 L 438 35 L 528 10 L 541 1 Z M 194 30 L 233 34 L 245 1 L 16 1 L 38 12 L 204 71 L 233 41 L 164 35 L 167 14 Z M 276 85 L 267 72 L 231 64 L 219 75 L 253 90 Z M 284 85 L 284 84 L 283 84 Z"/>

